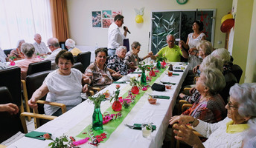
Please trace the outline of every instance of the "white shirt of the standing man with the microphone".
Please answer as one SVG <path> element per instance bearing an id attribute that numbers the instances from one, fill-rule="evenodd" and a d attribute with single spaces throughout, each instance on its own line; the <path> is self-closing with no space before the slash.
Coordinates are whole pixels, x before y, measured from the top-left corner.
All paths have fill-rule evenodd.
<path id="1" fill-rule="evenodd" d="M 115 22 L 112 22 L 108 31 L 108 48 L 116 49 L 124 44 L 124 34 L 121 33 L 119 27 Z"/>

